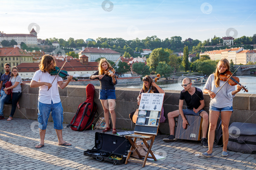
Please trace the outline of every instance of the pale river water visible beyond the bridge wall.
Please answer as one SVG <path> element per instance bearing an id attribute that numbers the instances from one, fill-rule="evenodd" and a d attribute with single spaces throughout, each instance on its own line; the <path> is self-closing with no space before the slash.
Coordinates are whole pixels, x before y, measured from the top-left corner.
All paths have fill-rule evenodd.
<path id="1" fill-rule="evenodd" d="M 248 94 L 256 94 L 256 75 L 250 75 L 250 76 L 238 76 L 240 79 L 240 83 L 243 86 L 246 86 L 248 90 Z M 178 80 L 178 83 L 173 83 L 173 81 L 162 81 L 162 82 L 156 82 L 158 86 L 160 86 L 162 89 L 166 90 L 183 90 L 183 87 L 181 87 L 181 81 Z M 116 85 L 116 87 L 125 87 L 125 88 L 142 88 L 143 83 L 140 84 L 127 84 L 127 85 Z M 204 84 L 195 84 L 194 87 L 198 87 L 200 89 L 204 88 Z M 242 89 L 239 93 L 247 93 L 244 92 Z"/>

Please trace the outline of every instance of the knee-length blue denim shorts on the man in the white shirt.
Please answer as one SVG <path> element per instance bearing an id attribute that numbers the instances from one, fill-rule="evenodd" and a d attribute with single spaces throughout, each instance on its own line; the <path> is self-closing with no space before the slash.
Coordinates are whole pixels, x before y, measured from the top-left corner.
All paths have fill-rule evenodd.
<path id="1" fill-rule="evenodd" d="M 42 130 L 46 129 L 50 112 L 52 112 L 54 129 L 63 129 L 63 108 L 61 102 L 54 104 L 44 104 L 38 101 L 38 127 Z"/>

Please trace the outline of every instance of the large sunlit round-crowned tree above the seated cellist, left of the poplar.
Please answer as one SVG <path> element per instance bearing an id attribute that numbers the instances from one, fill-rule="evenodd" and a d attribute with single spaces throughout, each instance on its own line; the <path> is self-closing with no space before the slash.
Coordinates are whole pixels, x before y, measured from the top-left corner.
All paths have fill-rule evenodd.
<path id="1" fill-rule="evenodd" d="M 156 48 L 152 51 L 149 58 L 147 59 L 147 65 L 152 69 L 152 71 L 156 70 L 156 67 L 160 61 L 165 61 L 168 63 L 170 61 L 170 54 L 168 51 L 163 48 Z"/>

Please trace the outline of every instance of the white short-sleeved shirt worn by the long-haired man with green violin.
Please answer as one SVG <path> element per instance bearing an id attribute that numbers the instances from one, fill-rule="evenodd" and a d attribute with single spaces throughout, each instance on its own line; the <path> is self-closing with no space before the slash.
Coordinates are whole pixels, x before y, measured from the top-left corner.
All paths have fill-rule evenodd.
<path id="1" fill-rule="evenodd" d="M 52 83 L 56 75 L 51 75 L 48 72 L 42 72 L 38 70 L 35 72 L 31 81 L 36 82 L 49 82 Z M 51 103 L 59 103 L 59 90 L 58 90 L 58 82 L 63 81 L 60 76 L 57 76 L 54 82 L 52 83 L 52 87 L 48 90 L 48 86 L 43 85 L 39 87 L 39 97 L 38 101 L 44 104 L 51 104 Z M 48 91 L 47 91 L 48 90 Z"/>

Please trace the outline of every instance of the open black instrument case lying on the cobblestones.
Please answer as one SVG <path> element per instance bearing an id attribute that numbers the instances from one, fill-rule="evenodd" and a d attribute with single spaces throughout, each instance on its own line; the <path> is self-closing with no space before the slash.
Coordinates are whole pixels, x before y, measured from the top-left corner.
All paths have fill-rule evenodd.
<path id="1" fill-rule="evenodd" d="M 91 150 L 85 150 L 83 155 L 108 161 L 116 164 L 124 164 L 131 144 L 123 136 L 107 133 L 95 133 L 95 144 Z"/>

